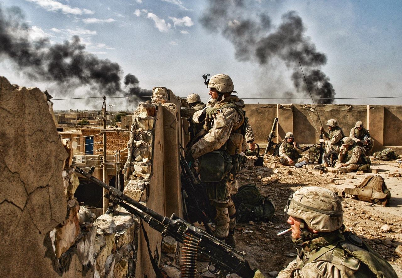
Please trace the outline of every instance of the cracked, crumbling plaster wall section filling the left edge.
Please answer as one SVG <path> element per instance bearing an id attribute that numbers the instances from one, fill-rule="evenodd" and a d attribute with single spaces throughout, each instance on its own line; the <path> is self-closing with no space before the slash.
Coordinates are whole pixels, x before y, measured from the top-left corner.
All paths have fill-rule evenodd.
<path id="1" fill-rule="evenodd" d="M 60 140 L 52 103 L 38 88 L 0 77 L 0 276 L 133 275 L 132 215 L 80 207 L 70 140 Z"/>

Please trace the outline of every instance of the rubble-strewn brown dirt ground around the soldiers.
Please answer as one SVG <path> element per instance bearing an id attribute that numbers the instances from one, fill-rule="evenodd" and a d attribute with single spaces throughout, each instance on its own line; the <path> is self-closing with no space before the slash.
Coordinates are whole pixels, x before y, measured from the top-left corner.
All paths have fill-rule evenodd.
<path id="1" fill-rule="evenodd" d="M 268 166 L 254 166 L 254 160 L 249 157 L 246 167 L 238 175 L 239 186 L 254 183 L 263 196 L 268 196 L 276 205 L 276 213 L 270 223 L 238 223 L 236 226 L 236 249 L 246 252 L 247 259 L 252 267 L 260 269 L 266 277 L 275 277 L 296 256 L 295 245 L 291 241 L 290 232 L 277 236 L 277 233 L 289 228 L 286 223 L 288 215 L 283 209 L 290 194 L 301 187 L 320 186 L 337 192 L 341 196 L 345 187 L 353 188 L 368 175 L 348 173 L 334 177 L 331 170 L 320 174 L 318 170 L 282 166 L 277 163 L 271 168 L 275 158 L 269 156 L 265 164 Z M 388 177 L 388 173 L 396 170 L 395 161 L 373 161 L 372 169 L 378 169 L 378 174 L 384 177 L 388 189 L 391 191 L 389 207 L 374 205 L 347 197 L 342 199 L 344 207 L 344 224 L 346 230 L 353 231 L 365 242 L 371 245 L 379 254 L 384 256 L 394 267 L 399 277 L 402 277 L 402 258 L 393 255 L 395 248 L 402 243 L 402 177 Z M 286 173 L 291 170 L 292 173 Z M 309 174 L 308 172 L 312 172 Z M 277 172 L 277 173 L 274 173 Z M 271 183 L 277 177 L 279 181 Z M 331 183 L 335 179 L 335 183 Z M 274 179 L 275 180 L 275 179 Z M 392 231 L 381 230 L 388 224 Z"/>

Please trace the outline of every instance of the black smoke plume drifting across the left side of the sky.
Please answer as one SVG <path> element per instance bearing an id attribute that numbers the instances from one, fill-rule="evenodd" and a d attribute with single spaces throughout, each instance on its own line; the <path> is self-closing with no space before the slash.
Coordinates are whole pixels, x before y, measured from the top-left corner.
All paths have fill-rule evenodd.
<path id="1" fill-rule="evenodd" d="M 141 89 L 138 79 L 131 74 L 124 81 L 127 91 L 123 90 L 120 65 L 85 51 L 78 36 L 62 44 L 51 44 L 49 39 L 31 41 L 31 28 L 24 20 L 21 8 L 3 10 L 0 6 L 0 55 L 12 60 L 30 79 L 54 82 L 69 89 L 89 86 L 92 95 L 151 94 L 150 90 Z"/>

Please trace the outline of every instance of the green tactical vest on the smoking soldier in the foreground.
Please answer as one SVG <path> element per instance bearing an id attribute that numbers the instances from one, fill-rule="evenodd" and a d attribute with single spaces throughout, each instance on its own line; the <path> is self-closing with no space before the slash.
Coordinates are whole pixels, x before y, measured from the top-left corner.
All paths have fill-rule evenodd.
<path id="1" fill-rule="evenodd" d="M 398 277 L 392 266 L 355 234 L 345 231 L 335 240 L 330 240 L 328 236 L 332 237 L 329 234 L 311 241 L 314 241 L 311 245 L 319 246 L 316 252 L 298 254 L 292 274 L 310 262 L 323 261 L 334 264 L 345 277 Z"/>

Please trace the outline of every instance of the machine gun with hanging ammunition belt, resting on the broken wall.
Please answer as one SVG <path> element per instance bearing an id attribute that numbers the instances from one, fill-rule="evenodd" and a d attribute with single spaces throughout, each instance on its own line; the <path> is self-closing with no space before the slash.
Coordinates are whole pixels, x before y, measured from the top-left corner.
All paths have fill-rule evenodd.
<path id="1" fill-rule="evenodd" d="M 160 215 L 124 195 L 123 192 L 89 175 L 88 172 L 79 167 L 76 167 L 75 171 L 105 188 L 107 190 L 105 197 L 109 198 L 113 203 L 113 207 L 120 205 L 128 212 L 144 220 L 152 229 L 159 231 L 162 237 L 170 235 L 178 242 L 183 243 L 182 260 L 185 259 L 183 260 L 185 261 L 183 268 L 195 270 L 197 253 L 201 253 L 211 259 L 208 270 L 214 274 L 223 274 L 225 276 L 226 274 L 236 273 L 244 278 L 254 277 L 254 271 L 247 260 L 244 259 L 244 252 L 233 249 L 216 237 L 177 217 L 174 213 L 170 218 Z M 189 277 L 193 277 L 191 274 L 194 276 L 194 273 L 190 272 Z"/>

